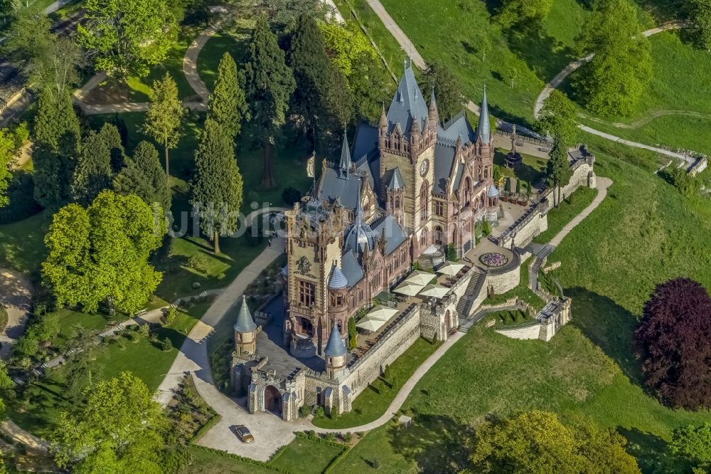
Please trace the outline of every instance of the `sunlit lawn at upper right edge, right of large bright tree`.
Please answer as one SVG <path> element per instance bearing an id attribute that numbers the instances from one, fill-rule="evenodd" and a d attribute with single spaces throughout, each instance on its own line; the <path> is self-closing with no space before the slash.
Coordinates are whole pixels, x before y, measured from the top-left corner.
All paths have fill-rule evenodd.
<path id="1" fill-rule="evenodd" d="M 683 43 L 679 32 L 659 33 L 650 41 L 653 79 L 634 117 L 605 117 L 599 120 L 580 110 L 584 115 L 581 122 L 644 144 L 661 144 L 711 154 L 711 143 L 704 139 L 711 127 L 711 97 L 698 93 L 711 87 L 708 80 L 711 53 Z M 584 68 L 580 71 L 584 73 Z M 570 93 L 569 84 L 566 83 L 564 89 Z M 616 127 L 612 125 L 614 123 L 625 127 Z"/>

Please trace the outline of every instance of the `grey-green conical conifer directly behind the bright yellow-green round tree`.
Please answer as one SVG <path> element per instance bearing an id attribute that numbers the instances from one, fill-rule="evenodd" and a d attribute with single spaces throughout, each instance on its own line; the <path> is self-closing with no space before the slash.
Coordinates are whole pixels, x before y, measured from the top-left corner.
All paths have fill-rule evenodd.
<path id="1" fill-rule="evenodd" d="M 126 159 L 126 167 L 114 178 L 114 190 L 119 194 L 135 194 L 146 204 L 158 204 L 171 210 L 171 189 L 161 167 L 158 150 L 149 142 L 140 142 L 134 156 Z"/>

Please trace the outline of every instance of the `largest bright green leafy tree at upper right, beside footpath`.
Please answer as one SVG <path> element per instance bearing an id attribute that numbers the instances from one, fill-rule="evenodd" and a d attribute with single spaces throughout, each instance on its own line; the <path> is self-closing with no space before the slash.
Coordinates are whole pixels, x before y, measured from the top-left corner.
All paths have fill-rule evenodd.
<path id="1" fill-rule="evenodd" d="M 631 115 L 652 79 L 651 47 L 641 34 L 629 0 L 601 0 L 578 38 L 579 50 L 594 53 L 574 87 L 585 107 L 599 115 Z"/>

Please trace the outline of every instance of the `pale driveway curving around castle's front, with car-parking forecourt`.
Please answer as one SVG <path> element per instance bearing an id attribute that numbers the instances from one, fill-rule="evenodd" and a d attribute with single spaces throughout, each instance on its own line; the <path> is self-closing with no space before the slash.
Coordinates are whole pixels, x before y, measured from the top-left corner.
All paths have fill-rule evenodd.
<path id="1" fill-rule="evenodd" d="M 577 226 L 585 217 L 597 209 L 607 195 L 607 189 L 611 186 L 612 180 L 598 177 L 598 194 L 580 214 L 575 216 L 557 235 L 550 241 L 550 246 L 555 246 L 567 236 L 572 229 Z M 255 211 L 257 212 L 257 211 Z M 252 213 L 254 214 L 254 213 Z M 250 214 L 251 216 L 251 214 Z M 240 273 L 230 284 L 227 290 L 220 295 L 212 306 L 205 313 L 201 322 L 193 329 L 185 344 L 181 347 L 176 362 L 171 367 L 170 374 L 161 384 L 159 389 L 159 399 L 167 404 L 172 396 L 172 389 L 178 384 L 182 376 L 191 374 L 195 381 L 198 393 L 205 399 L 208 405 L 212 406 L 220 414 L 221 418 L 210 430 L 205 433 L 196 443 L 201 446 L 215 448 L 228 453 L 241 455 L 245 458 L 266 461 L 269 457 L 284 445 L 291 443 L 294 439 L 295 431 L 314 430 L 318 433 L 357 433 L 370 431 L 385 425 L 392 419 L 398 410 L 405 403 L 405 400 L 415 389 L 417 382 L 427 374 L 430 368 L 456 344 L 464 332 L 456 332 L 449 337 L 437 350 L 415 370 L 409 379 L 397 392 L 395 399 L 387 407 L 385 413 L 375 421 L 365 423 L 351 428 L 318 428 L 311 421 L 299 419 L 287 422 L 271 413 L 248 414 L 243 406 L 225 394 L 221 393 L 213 384 L 212 373 L 210 372 L 210 362 L 207 350 L 207 338 L 210 336 L 213 327 L 217 325 L 225 316 L 233 314 L 235 303 L 240 300 L 242 293 L 253 278 L 260 273 L 263 268 L 271 263 L 284 249 L 284 239 L 279 238 L 278 244 L 272 248 L 265 249 L 249 267 Z M 255 442 L 250 444 L 240 443 L 232 432 L 235 424 L 245 424 L 255 435 Z"/>

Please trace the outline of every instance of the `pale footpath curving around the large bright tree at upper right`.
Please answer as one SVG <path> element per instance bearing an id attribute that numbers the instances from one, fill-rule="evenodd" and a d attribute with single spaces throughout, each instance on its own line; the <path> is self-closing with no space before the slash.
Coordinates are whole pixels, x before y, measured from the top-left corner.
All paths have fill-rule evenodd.
<path id="1" fill-rule="evenodd" d="M 690 26 L 690 23 L 687 23 L 685 21 L 674 21 L 672 23 L 666 23 L 662 26 L 657 26 L 656 28 L 650 28 L 647 31 L 643 31 L 642 34 L 644 36 L 649 37 L 656 35 L 657 33 L 661 33 L 662 31 L 678 30 L 681 28 L 687 28 L 688 26 Z M 586 63 L 589 63 L 589 61 L 592 60 L 594 56 L 595 53 L 592 53 L 588 56 L 585 56 L 584 58 L 574 60 L 572 61 L 572 63 L 565 66 L 565 68 L 560 71 L 560 73 L 557 73 L 557 75 L 555 75 L 555 78 L 552 78 L 552 80 L 550 80 L 550 82 L 545 85 L 545 88 L 543 88 L 541 93 L 538 95 L 538 98 L 536 98 L 535 105 L 533 106 L 533 116 L 538 118 L 538 114 L 540 113 L 540 110 L 543 107 L 543 102 L 548 98 L 548 96 L 553 92 L 553 90 L 555 90 L 574 70 Z M 588 127 L 587 125 L 579 124 L 578 127 L 584 132 L 587 132 L 591 135 L 597 135 L 598 137 L 610 140 L 611 142 L 625 144 L 628 147 L 648 149 L 652 152 L 663 154 L 668 157 L 682 159 L 688 164 L 693 164 L 695 162 L 693 157 L 690 157 L 687 154 L 672 152 L 668 149 L 652 147 L 643 143 L 632 142 L 631 140 L 617 137 L 616 135 L 612 135 L 611 133 L 601 132 L 600 130 Z"/>

